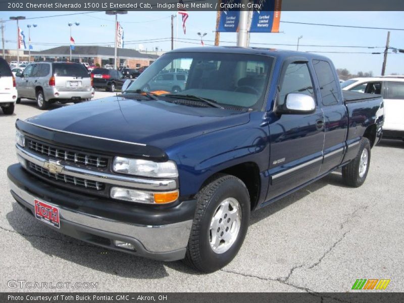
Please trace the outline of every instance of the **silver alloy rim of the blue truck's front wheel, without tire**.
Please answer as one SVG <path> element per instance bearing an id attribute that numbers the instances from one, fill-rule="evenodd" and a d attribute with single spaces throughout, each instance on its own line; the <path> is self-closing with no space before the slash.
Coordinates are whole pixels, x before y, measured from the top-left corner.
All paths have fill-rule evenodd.
<path id="1" fill-rule="evenodd" d="M 214 212 L 209 229 L 209 242 L 216 254 L 223 254 L 233 245 L 240 225 L 240 204 L 235 198 L 224 199 Z"/>

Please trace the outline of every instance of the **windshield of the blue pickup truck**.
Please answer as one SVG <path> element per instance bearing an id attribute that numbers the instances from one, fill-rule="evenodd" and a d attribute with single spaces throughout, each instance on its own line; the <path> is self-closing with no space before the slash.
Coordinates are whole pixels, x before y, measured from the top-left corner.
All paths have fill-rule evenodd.
<path id="1" fill-rule="evenodd" d="M 169 53 L 148 67 L 127 90 L 175 93 L 261 109 L 273 60 L 245 54 Z"/>

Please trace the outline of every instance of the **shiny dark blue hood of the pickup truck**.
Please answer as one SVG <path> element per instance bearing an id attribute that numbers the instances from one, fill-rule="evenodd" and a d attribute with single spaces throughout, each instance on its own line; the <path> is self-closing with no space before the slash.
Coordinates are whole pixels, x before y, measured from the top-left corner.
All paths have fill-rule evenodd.
<path id="1" fill-rule="evenodd" d="M 66 106 L 27 121 L 55 130 L 165 150 L 188 138 L 245 124 L 249 113 L 113 96 Z"/>

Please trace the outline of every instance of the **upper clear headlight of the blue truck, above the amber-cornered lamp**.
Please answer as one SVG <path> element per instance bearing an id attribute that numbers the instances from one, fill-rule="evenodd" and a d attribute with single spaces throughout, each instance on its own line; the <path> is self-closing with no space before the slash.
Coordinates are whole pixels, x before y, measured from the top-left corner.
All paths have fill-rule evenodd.
<path id="1" fill-rule="evenodd" d="M 112 169 L 116 173 L 152 178 L 176 178 L 177 166 L 174 161 L 153 162 L 147 160 L 115 157 Z"/>

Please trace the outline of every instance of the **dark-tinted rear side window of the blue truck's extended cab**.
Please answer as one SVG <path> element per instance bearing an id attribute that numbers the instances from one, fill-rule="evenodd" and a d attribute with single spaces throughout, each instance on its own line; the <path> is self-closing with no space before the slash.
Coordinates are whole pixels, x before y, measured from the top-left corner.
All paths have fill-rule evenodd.
<path id="1" fill-rule="evenodd" d="M 338 100 L 341 99 L 341 86 L 334 76 L 330 63 L 323 60 L 313 60 L 313 66 L 320 84 L 323 106 L 338 104 Z"/>

